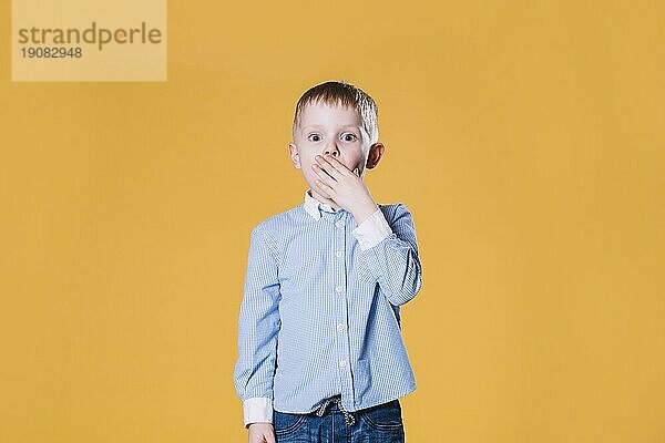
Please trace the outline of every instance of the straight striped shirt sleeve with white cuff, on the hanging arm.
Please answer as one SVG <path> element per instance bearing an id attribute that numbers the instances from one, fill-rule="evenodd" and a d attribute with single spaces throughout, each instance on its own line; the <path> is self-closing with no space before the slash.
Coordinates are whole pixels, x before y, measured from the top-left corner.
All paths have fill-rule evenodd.
<path id="1" fill-rule="evenodd" d="M 234 384 L 243 401 L 245 426 L 273 421 L 273 380 L 277 333 L 282 326 L 277 260 L 259 226 L 250 234 L 238 317 L 238 359 L 234 369 Z"/>

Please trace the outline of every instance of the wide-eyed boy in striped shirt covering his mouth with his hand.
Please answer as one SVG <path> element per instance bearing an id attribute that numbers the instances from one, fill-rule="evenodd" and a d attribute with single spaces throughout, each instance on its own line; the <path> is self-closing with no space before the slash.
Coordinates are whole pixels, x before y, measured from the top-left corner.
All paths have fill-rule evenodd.
<path id="1" fill-rule="evenodd" d="M 403 442 L 416 389 L 400 306 L 422 285 L 413 219 L 362 182 L 385 152 L 377 106 L 326 82 L 296 105 L 305 202 L 250 233 L 234 383 L 249 443 Z"/>

